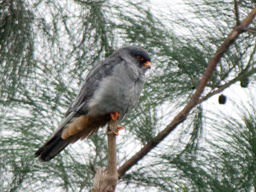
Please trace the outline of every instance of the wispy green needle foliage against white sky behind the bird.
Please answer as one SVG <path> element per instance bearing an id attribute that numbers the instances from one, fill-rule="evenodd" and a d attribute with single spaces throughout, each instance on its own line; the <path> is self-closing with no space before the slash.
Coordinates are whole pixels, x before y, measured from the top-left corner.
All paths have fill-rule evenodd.
<path id="1" fill-rule="evenodd" d="M 92 66 L 121 46 L 144 47 L 152 69 L 139 105 L 120 122 L 125 130 L 117 138 L 118 167 L 172 121 L 237 23 L 234 1 L 166 2 L 0 1 L 0 191 L 91 190 L 97 166 L 108 164 L 105 128 L 47 163 L 33 154 Z M 241 21 L 254 5 L 239 1 Z M 221 105 L 233 113 L 216 115 L 197 105 L 121 177 L 116 191 L 255 190 L 255 23 L 226 50 L 203 93 L 237 82 L 225 93 L 232 107 Z M 237 104 L 241 90 L 248 95 Z"/>

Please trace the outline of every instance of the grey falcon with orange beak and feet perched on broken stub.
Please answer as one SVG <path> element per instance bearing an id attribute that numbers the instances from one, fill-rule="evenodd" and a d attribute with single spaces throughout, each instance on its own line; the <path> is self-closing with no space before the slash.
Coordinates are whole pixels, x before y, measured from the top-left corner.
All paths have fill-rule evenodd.
<path id="1" fill-rule="evenodd" d="M 70 143 L 91 136 L 110 120 L 124 119 L 139 102 L 150 61 L 145 49 L 128 45 L 94 65 L 56 131 L 34 157 L 41 163 L 47 162 Z M 122 128 L 117 127 L 115 134 Z"/>

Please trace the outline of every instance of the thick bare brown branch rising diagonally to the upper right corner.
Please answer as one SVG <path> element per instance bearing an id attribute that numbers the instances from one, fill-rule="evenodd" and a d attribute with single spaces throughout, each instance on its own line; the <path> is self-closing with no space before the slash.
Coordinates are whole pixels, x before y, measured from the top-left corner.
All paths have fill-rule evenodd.
<path id="1" fill-rule="evenodd" d="M 178 124 L 182 123 L 190 110 L 195 107 L 199 101 L 199 97 L 204 91 L 204 87 L 212 76 L 213 71 L 215 70 L 220 58 L 223 53 L 228 49 L 228 47 L 237 39 L 238 35 L 246 31 L 248 25 L 252 22 L 256 15 L 256 6 L 253 8 L 252 12 L 237 26 L 235 26 L 232 32 L 225 39 L 223 44 L 215 52 L 211 61 L 209 61 L 204 76 L 200 80 L 200 83 L 196 89 L 196 92 L 192 95 L 191 99 L 188 101 L 188 104 L 180 111 L 180 113 L 174 117 L 172 122 L 167 125 L 167 127 L 161 131 L 155 138 L 149 141 L 143 148 L 140 149 L 138 153 L 132 156 L 129 160 L 127 160 L 119 169 L 119 176 L 123 176 L 126 171 L 128 171 L 133 165 L 137 164 L 137 162 L 142 159 L 144 156 L 148 154 L 150 150 L 152 150 L 156 145 L 158 145 L 164 138 L 172 132 Z"/>

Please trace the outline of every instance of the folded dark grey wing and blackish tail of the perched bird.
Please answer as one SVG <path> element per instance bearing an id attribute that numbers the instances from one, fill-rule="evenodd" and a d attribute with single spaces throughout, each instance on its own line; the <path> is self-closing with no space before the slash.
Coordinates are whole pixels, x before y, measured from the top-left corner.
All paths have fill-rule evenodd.
<path id="1" fill-rule="evenodd" d="M 114 68 L 122 62 L 121 58 L 110 57 L 95 67 L 92 68 L 88 76 L 86 77 L 80 92 L 76 99 L 70 104 L 65 117 L 60 122 L 56 131 L 52 136 L 35 152 L 35 157 L 39 156 L 40 162 L 51 160 L 54 156 L 60 153 L 69 143 L 75 142 L 77 139 L 74 137 L 68 137 L 62 139 L 61 135 L 65 126 L 72 121 L 72 118 L 86 115 L 88 113 L 87 104 L 92 98 L 93 93 L 97 90 L 98 85 L 104 77 L 110 76 L 113 73 Z"/>

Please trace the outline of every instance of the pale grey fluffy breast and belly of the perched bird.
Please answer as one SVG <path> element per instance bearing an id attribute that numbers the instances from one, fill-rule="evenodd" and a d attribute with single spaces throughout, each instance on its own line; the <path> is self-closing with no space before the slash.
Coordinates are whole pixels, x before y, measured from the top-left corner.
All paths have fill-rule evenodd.
<path id="1" fill-rule="evenodd" d="M 122 119 L 138 103 L 144 82 L 143 73 L 127 68 L 103 78 L 88 103 L 88 115 L 118 112 Z"/>

